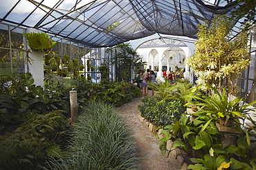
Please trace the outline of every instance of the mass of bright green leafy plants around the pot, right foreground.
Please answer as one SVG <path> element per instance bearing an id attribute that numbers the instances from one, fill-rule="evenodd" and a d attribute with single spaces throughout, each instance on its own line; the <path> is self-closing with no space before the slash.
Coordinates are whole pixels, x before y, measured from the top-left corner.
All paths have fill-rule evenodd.
<path id="1" fill-rule="evenodd" d="M 174 141 L 172 147 L 182 147 L 192 153 L 191 160 L 195 164 L 189 165 L 189 169 L 254 169 L 256 149 L 251 147 L 251 143 L 255 142 L 252 138 L 256 137 L 256 123 L 248 114 L 254 109 L 248 107 L 256 101 L 248 105 L 243 105 L 239 98 L 229 101 L 225 90 L 221 94 L 214 87 L 208 87 L 214 92 L 212 96 L 193 96 L 198 100 L 195 105 L 201 106 L 195 117 L 182 116 L 161 131 L 165 134 L 159 146 L 161 153 L 165 155 L 167 151 L 170 152 L 166 145 L 167 140 L 171 139 Z M 216 123 L 227 115 L 228 119 L 235 118 L 239 123 L 230 127 L 237 129 L 239 134 L 236 145 L 223 147 L 220 139 L 225 132 L 219 131 Z"/>

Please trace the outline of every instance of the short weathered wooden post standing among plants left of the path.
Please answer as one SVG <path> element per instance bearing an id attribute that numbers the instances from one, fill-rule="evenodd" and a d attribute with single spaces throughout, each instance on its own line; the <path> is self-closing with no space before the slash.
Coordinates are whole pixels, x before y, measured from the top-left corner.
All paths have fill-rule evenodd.
<path id="1" fill-rule="evenodd" d="M 75 119 L 78 117 L 77 92 L 75 90 L 69 91 L 69 99 L 71 105 L 71 123 L 75 123 Z"/>

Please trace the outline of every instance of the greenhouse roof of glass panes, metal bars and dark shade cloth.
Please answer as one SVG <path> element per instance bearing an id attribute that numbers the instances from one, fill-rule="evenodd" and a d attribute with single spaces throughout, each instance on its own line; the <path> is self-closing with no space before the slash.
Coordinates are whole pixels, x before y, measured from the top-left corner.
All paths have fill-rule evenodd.
<path id="1" fill-rule="evenodd" d="M 212 1 L 212 0 L 209 0 Z M 156 33 L 196 38 L 196 26 L 237 2 L 203 0 L 0 0 L 0 22 L 85 44 L 111 47 Z"/>

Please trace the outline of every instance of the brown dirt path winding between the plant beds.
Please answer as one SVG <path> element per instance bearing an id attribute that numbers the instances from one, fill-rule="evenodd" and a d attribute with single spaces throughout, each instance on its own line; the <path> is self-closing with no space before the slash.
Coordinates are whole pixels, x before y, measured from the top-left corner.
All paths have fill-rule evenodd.
<path id="1" fill-rule="evenodd" d="M 151 91 L 149 91 L 150 96 Z M 160 141 L 147 129 L 138 118 L 138 105 L 142 105 L 141 98 L 135 98 L 131 102 L 118 107 L 120 116 L 124 118 L 125 123 L 131 129 L 134 141 L 138 147 L 140 164 L 142 170 L 176 170 L 180 169 L 178 161 L 161 155 L 159 149 Z"/>

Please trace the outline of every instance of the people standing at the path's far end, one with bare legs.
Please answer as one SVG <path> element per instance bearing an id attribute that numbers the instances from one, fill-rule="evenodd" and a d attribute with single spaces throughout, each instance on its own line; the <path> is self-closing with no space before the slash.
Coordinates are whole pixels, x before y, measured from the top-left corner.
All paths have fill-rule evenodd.
<path id="1" fill-rule="evenodd" d="M 143 96 L 148 95 L 149 82 L 156 83 L 156 74 L 153 70 L 147 69 L 146 72 L 142 73 L 142 70 L 138 70 L 137 85 L 143 91 Z M 154 96 L 154 89 L 152 89 L 152 96 Z"/>

